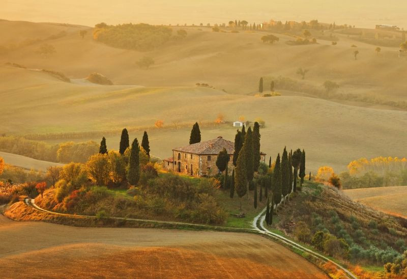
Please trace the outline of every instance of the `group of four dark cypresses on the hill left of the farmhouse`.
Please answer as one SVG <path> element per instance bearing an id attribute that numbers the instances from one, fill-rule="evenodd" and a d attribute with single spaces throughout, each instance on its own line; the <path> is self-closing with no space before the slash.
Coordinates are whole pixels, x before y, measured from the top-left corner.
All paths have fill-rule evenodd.
<path id="1" fill-rule="evenodd" d="M 122 135 L 120 137 L 120 145 L 119 145 L 119 153 L 121 155 L 125 154 L 125 151 L 130 147 L 129 142 L 129 133 L 126 128 L 122 130 Z M 143 133 L 143 138 L 141 141 L 141 147 L 146 151 L 147 156 L 150 157 L 150 142 L 149 142 L 149 135 L 146 131 Z M 128 172 L 127 172 L 127 180 L 131 185 L 136 185 L 140 180 L 140 161 L 139 161 L 139 152 L 140 147 L 138 144 L 137 138 L 134 138 L 130 154 L 129 154 L 129 162 L 128 162 Z M 106 138 L 103 136 L 102 141 L 100 142 L 99 147 L 100 154 L 108 154 L 107 146 L 106 146 Z"/>

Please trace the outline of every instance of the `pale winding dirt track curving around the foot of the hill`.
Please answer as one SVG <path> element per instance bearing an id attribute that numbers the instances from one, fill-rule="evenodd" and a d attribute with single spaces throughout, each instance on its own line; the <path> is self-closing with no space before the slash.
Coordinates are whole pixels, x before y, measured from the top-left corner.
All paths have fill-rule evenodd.
<path id="1" fill-rule="evenodd" d="M 86 218 L 95 218 L 95 216 L 90 216 L 90 215 L 74 215 L 74 214 L 66 214 L 66 213 L 57 213 L 53 211 L 49 211 L 46 209 L 43 209 L 36 205 L 34 199 L 25 199 L 24 203 L 28 206 L 34 207 L 35 209 L 43 212 L 47 212 L 50 214 L 56 214 L 56 215 L 62 215 L 62 216 L 70 216 L 70 217 L 86 217 Z M 117 219 L 117 220 L 132 220 L 132 221 L 138 221 L 138 222 L 149 222 L 149 223 L 155 223 L 155 224 L 167 224 L 167 225 L 180 225 L 180 226 L 189 226 L 189 227 L 195 227 L 195 228 L 208 228 L 208 229 L 217 229 L 217 230 L 224 230 L 224 231 L 241 231 L 241 232 L 248 232 L 248 233 L 259 233 L 266 235 L 268 237 L 271 237 L 272 239 L 276 239 L 279 242 L 284 243 L 285 245 L 301 250 L 302 252 L 306 252 L 311 254 L 312 256 L 322 260 L 323 262 L 330 262 L 333 265 L 335 265 L 338 269 L 343 270 L 346 275 L 349 278 L 357 279 L 357 277 L 349 270 L 344 268 L 343 266 L 335 263 L 334 261 L 330 260 L 329 258 L 314 252 L 311 249 L 308 249 L 301 244 L 298 244 L 295 241 L 292 241 L 288 238 L 285 238 L 283 236 L 280 236 L 276 233 L 270 232 L 265 226 L 264 226 L 264 221 L 266 216 L 264 215 L 266 211 L 266 208 L 264 208 L 256 217 L 254 217 L 253 222 L 252 222 L 252 227 L 253 229 L 242 229 L 242 228 L 230 228 L 230 227 L 222 227 L 222 226 L 208 226 L 208 225 L 199 225 L 199 224 L 191 224 L 191 223 L 185 223 L 185 222 L 175 222 L 175 221 L 159 221 L 159 220 L 147 220 L 147 219 L 136 219 L 136 218 L 124 218 L 124 217 L 109 217 L 111 219 Z"/>

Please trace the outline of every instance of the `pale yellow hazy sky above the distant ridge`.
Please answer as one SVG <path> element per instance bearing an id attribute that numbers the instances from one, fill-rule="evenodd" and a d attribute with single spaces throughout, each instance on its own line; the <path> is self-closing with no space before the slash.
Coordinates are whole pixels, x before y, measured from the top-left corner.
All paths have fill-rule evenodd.
<path id="1" fill-rule="evenodd" d="M 318 19 L 360 27 L 396 24 L 407 27 L 405 0 L 0 0 L 0 18 L 63 22 L 93 26 L 146 22 L 152 24 L 222 23 Z"/>

